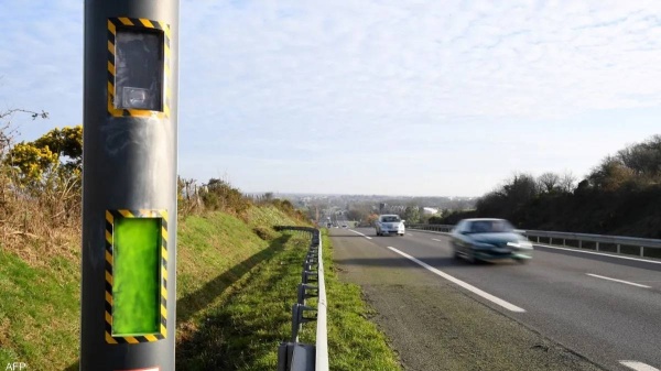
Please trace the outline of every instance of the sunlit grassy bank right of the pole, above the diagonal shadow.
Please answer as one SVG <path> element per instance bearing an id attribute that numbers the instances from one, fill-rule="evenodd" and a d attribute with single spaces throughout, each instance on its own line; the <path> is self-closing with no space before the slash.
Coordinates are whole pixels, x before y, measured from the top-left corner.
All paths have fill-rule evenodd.
<path id="1" fill-rule="evenodd" d="M 205 309 L 220 305 L 236 281 L 270 255 L 271 242 L 256 229 L 293 225 L 293 220 L 271 207 L 253 207 L 247 222 L 234 216 L 213 212 L 192 216 L 178 227 L 177 241 L 177 327 L 195 327 Z M 189 321 L 192 320 L 192 321 Z"/>

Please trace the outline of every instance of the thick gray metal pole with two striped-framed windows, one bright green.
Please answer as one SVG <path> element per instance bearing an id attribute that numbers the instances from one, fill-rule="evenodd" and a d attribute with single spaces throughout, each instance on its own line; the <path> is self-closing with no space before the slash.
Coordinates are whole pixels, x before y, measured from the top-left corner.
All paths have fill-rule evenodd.
<path id="1" fill-rule="evenodd" d="M 80 370 L 174 370 L 178 0 L 86 0 Z"/>

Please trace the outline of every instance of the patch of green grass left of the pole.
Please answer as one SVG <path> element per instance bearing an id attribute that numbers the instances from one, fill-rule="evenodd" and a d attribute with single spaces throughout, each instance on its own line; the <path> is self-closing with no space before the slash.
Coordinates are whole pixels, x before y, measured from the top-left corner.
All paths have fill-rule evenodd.
<path id="1" fill-rule="evenodd" d="M 79 269 L 61 258 L 51 266 L 0 252 L 0 364 L 57 370 L 76 359 Z"/>

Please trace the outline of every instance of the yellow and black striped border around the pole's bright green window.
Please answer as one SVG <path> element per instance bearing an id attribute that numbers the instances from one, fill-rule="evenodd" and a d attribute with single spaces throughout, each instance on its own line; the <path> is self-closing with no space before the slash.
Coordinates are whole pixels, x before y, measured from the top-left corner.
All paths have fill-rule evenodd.
<path id="1" fill-rule="evenodd" d="M 161 218 L 161 326 L 160 331 L 144 336 L 112 336 L 112 231 L 119 218 Z M 167 211 L 106 210 L 106 342 L 139 343 L 164 339 L 167 334 Z"/>

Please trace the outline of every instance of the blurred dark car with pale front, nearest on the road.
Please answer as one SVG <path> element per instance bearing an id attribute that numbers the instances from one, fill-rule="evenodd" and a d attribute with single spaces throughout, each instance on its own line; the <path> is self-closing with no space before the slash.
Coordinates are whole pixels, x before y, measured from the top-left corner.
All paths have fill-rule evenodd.
<path id="1" fill-rule="evenodd" d="M 451 231 L 451 238 L 455 258 L 472 263 L 501 259 L 523 263 L 532 258 L 532 243 L 505 219 L 460 220 Z"/>

